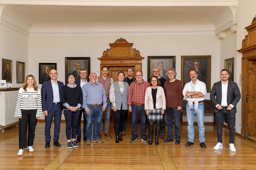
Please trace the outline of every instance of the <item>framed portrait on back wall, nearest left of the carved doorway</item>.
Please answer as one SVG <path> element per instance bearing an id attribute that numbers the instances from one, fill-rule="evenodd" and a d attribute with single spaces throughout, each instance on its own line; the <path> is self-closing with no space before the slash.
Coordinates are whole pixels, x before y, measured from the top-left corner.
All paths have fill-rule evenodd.
<path id="1" fill-rule="evenodd" d="M 90 75 L 90 57 L 65 57 L 65 82 L 67 84 L 67 74 L 73 73 L 76 81 L 81 77 L 80 69 L 86 69 Z M 88 79 L 88 77 L 87 77 Z"/>

